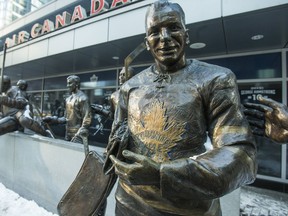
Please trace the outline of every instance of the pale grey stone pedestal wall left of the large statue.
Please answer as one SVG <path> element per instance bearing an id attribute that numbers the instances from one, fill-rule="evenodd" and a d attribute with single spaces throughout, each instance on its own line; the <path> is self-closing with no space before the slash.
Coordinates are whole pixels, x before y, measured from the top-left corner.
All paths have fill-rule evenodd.
<path id="1" fill-rule="evenodd" d="M 5 134 L 0 136 L 0 182 L 57 213 L 57 204 L 84 158 L 81 144 L 20 132 Z"/>

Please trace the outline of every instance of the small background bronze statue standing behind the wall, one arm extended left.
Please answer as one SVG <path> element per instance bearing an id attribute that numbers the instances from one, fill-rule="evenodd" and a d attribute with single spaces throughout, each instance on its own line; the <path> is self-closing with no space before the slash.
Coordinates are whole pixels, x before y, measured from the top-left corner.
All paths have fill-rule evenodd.
<path id="1" fill-rule="evenodd" d="M 87 95 L 80 90 L 80 78 L 67 77 L 67 88 L 71 95 L 66 98 L 65 116 L 47 116 L 43 121 L 48 124 L 66 124 L 65 139 L 84 144 L 85 154 L 89 153 L 88 135 L 91 124 L 91 112 Z"/>

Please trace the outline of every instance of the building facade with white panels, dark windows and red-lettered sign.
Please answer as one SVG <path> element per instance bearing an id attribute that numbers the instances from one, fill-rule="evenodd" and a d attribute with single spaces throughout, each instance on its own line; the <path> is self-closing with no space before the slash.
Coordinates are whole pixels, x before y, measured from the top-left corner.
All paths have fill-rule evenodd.
<path id="1" fill-rule="evenodd" d="M 153 0 L 54 0 L 0 30 L 8 44 L 4 74 L 28 81 L 42 115 L 63 115 L 66 77 L 81 78 L 91 103 L 109 106 L 124 59 L 145 37 L 144 17 Z M 288 0 L 175 0 L 189 29 L 188 58 L 230 68 L 241 100 L 259 95 L 287 104 Z M 0 62 L 3 50 L 0 48 Z M 147 51 L 132 65 L 153 62 Z M 105 146 L 111 120 L 95 115 L 91 144 Z M 62 130 L 55 130 L 59 137 Z M 257 137 L 258 185 L 288 192 L 288 148 Z M 270 184 L 271 183 L 271 184 Z"/>

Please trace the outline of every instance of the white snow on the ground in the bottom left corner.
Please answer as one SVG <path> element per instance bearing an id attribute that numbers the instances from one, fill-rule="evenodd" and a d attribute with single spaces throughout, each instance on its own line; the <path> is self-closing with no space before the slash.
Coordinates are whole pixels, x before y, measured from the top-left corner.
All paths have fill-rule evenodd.
<path id="1" fill-rule="evenodd" d="M 0 216 L 57 216 L 0 183 Z"/>

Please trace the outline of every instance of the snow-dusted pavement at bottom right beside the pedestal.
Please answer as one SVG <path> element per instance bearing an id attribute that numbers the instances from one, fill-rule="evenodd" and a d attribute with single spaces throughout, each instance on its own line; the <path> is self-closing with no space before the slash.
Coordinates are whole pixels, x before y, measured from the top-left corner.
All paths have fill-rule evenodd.
<path id="1" fill-rule="evenodd" d="M 242 187 L 240 216 L 288 216 L 288 194 L 251 186 Z"/>

